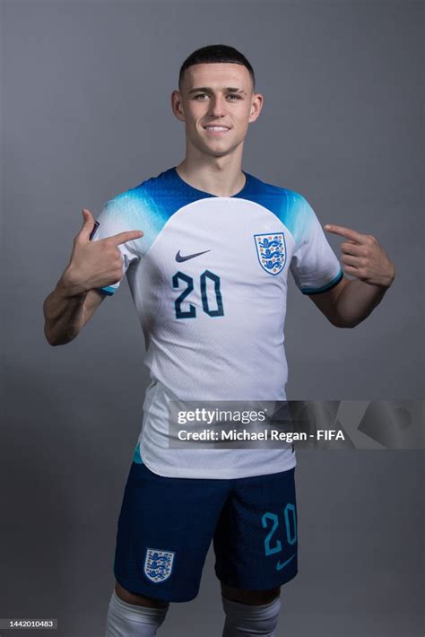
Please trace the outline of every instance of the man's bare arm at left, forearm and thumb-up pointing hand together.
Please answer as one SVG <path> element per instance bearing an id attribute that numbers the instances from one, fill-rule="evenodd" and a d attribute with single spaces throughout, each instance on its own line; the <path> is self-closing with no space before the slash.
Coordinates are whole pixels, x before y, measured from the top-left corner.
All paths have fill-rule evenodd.
<path id="1" fill-rule="evenodd" d="M 93 216 L 87 209 L 82 210 L 82 216 L 82 229 L 74 239 L 69 264 L 43 304 L 44 334 L 49 345 L 65 345 L 78 336 L 105 298 L 98 289 L 117 284 L 123 275 L 117 246 L 143 236 L 142 231 L 126 231 L 91 241 Z"/>

